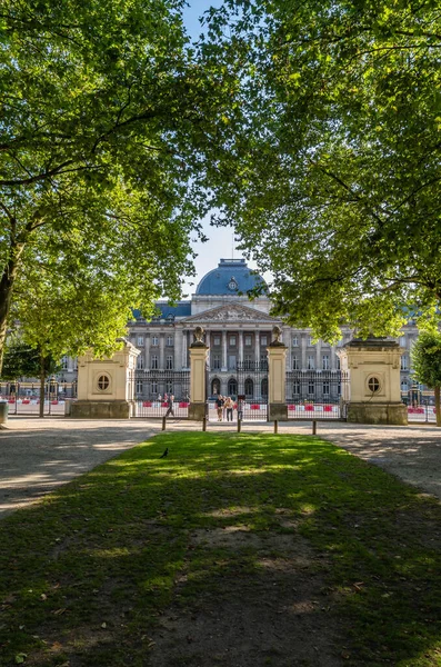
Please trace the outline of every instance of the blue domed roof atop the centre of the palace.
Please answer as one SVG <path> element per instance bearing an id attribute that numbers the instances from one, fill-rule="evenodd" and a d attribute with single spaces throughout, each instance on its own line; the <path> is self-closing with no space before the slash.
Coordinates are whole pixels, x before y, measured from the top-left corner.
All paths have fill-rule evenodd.
<path id="1" fill-rule="evenodd" d="M 221 259 L 217 269 L 209 271 L 198 285 L 197 295 L 230 295 L 248 292 L 263 279 L 249 269 L 244 259 Z"/>

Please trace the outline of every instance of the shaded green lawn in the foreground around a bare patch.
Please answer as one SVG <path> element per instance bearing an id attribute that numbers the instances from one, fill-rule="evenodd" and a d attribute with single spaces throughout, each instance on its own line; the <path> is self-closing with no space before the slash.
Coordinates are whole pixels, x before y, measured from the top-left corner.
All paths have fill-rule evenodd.
<path id="1" fill-rule="evenodd" d="M 437 500 L 318 438 L 162 434 L 0 522 L 0 664 L 149 665 L 162 611 L 261 576 L 264 538 L 279 560 L 307 545 L 344 664 L 440 666 L 440 519 Z M 243 527 L 239 548 L 194 541 Z"/>

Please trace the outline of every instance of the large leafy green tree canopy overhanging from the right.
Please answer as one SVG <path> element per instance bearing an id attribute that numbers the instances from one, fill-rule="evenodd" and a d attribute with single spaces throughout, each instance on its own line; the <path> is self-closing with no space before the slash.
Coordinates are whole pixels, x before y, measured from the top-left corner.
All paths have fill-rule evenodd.
<path id="1" fill-rule="evenodd" d="M 230 150 L 211 172 L 217 221 L 234 222 L 241 247 L 272 271 L 274 312 L 325 339 L 342 321 L 397 335 L 409 308 L 434 315 L 439 4 L 228 6 L 227 18 L 212 13 L 210 39 L 241 63 L 248 120 L 229 126 Z"/>

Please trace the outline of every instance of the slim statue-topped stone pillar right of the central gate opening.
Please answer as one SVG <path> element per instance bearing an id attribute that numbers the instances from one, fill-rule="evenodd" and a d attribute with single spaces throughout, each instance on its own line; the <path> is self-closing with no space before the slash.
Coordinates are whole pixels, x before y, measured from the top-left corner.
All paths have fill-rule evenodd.
<path id="1" fill-rule="evenodd" d="M 267 348 L 269 378 L 268 378 L 268 420 L 287 421 L 288 407 L 285 398 L 287 384 L 287 346 L 280 340 L 281 329 L 272 329 L 273 340 Z"/>

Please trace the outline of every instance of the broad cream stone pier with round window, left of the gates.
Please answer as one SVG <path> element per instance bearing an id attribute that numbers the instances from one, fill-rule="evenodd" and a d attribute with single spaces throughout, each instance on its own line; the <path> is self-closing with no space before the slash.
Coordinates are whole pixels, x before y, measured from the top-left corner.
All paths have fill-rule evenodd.
<path id="1" fill-rule="evenodd" d="M 93 350 L 89 350 L 78 358 L 78 400 L 71 405 L 71 417 L 128 419 L 133 416 L 133 371 L 140 350 L 124 338 L 119 341 L 123 347 L 112 357 L 96 359 Z"/>

